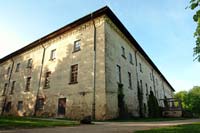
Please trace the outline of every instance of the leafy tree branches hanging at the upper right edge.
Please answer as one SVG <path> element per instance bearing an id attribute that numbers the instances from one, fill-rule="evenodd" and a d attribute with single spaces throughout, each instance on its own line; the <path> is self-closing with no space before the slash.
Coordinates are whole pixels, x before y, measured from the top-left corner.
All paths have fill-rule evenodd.
<path id="1" fill-rule="evenodd" d="M 195 60 L 200 62 L 200 10 L 199 6 L 200 0 L 190 0 L 189 8 L 191 10 L 196 10 L 196 13 L 193 16 L 193 20 L 197 23 L 196 31 L 194 32 L 194 37 L 196 38 L 196 46 L 194 47 L 194 56 Z"/>

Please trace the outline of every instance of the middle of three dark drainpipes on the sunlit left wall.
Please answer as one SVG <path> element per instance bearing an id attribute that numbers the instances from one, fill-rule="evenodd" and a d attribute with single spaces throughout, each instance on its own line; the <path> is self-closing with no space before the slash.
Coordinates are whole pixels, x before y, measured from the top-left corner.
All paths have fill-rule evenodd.
<path id="1" fill-rule="evenodd" d="M 38 101 L 38 96 L 39 96 L 39 91 L 40 91 L 40 86 L 41 86 L 42 71 L 43 71 L 43 66 L 44 66 L 44 57 L 45 57 L 45 52 L 46 52 L 46 48 L 44 47 L 43 44 L 42 44 L 42 48 L 43 48 L 43 55 L 42 55 L 42 62 L 41 62 L 41 68 L 40 68 L 40 77 L 39 77 L 37 95 L 36 95 L 36 100 L 35 100 L 35 107 L 34 107 L 34 114 L 33 114 L 34 116 L 36 116 L 36 112 L 37 112 L 37 101 Z"/>

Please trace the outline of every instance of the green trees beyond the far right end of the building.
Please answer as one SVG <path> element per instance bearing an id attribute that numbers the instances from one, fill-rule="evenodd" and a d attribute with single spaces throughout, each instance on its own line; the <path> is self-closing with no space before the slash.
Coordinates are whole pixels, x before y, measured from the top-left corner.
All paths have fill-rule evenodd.
<path id="1" fill-rule="evenodd" d="M 195 86 L 191 90 L 180 91 L 175 94 L 175 98 L 182 100 L 182 107 L 200 116 L 200 87 Z"/>

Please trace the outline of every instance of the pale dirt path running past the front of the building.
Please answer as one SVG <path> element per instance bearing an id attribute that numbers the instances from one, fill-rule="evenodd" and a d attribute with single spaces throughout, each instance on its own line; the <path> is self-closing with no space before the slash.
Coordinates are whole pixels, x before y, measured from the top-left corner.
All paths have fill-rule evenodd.
<path id="1" fill-rule="evenodd" d="M 5 130 L 0 131 L 0 133 L 132 133 L 136 130 L 145 130 L 180 124 L 190 124 L 194 122 L 200 122 L 200 119 L 176 120 L 165 122 L 95 122 L 94 125 Z"/>

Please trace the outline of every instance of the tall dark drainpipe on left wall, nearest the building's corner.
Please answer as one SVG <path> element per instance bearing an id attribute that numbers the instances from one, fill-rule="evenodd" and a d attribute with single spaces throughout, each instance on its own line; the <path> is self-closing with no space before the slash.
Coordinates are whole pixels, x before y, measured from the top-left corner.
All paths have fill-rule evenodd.
<path id="1" fill-rule="evenodd" d="M 93 103 L 92 103 L 92 119 L 95 120 L 95 112 L 96 112 L 96 25 L 95 21 L 93 19 L 93 14 L 91 13 L 91 19 L 93 22 L 93 27 L 94 27 L 94 57 L 93 57 L 93 72 L 94 72 L 94 77 L 93 77 Z"/>

